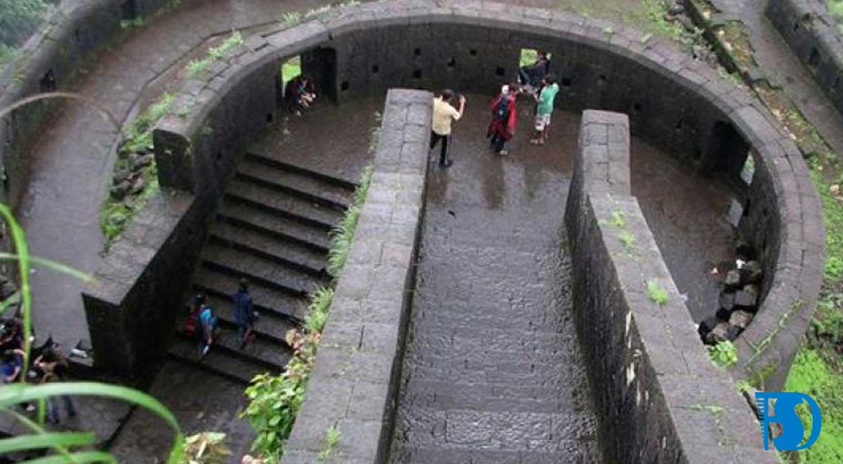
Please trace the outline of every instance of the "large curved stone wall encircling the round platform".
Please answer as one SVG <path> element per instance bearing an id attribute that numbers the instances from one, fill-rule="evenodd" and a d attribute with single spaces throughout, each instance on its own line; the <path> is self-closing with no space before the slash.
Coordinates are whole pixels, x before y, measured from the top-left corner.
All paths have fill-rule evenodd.
<path id="1" fill-rule="evenodd" d="M 752 148 L 756 169 L 744 184 L 740 229 L 760 251 L 767 278 L 760 314 L 738 337 L 736 373 L 764 373 L 766 386 L 776 389 L 821 278 L 824 229 L 807 167 L 743 89 L 669 46 L 615 27 L 500 3 L 399 1 L 336 8 L 267 30 L 185 83 L 175 114 L 155 132 L 160 181 L 215 201 L 228 166 L 273 120 L 279 64 L 288 57 L 302 55 L 304 71 L 323 93 L 346 101 L 394 85 L 490 93 L 514 77 L 520 47 L 548 50 L 561 76 L 563 108 L 627 113 L 637 136 L 703 175 L 727 175 L 736 184 L 745 149 Z"/>

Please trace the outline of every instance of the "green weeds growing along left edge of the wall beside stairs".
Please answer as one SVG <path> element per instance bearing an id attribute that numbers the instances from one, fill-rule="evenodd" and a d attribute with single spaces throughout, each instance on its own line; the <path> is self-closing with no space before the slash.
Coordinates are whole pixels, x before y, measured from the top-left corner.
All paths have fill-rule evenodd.
<path id="1" fill-rule="evenodd" d="M 379 131 L 380 116 L 376 113 L 375 127 L 370 133 L 370 152 L 373 152 L 377 145 Z M 348 251 L 351 249 L 357 220 L 372 181 L 372 171 L 372 166 L 363 169 L 352 206 L 346 210 L 341 223 L 331 232 L 328 270 L 335 279 L 341 275 Z M 313 370 L 319 339 L 325 329 L 333 298 L 332 286 L 317 289 L 311 295 L 303 330 L 299 332 L 293 329 L 285 336 L 286 342 L 293 347 L 293 358 L 287 363 L 284 372 L 281 375 L 257 375 L 245 391 L 250 403 L 240 417 L 249 419 L 257 435 L 252 444 L 252 451 L 266 462 L 280 461 L 284 454 L 284 445 L 293 431 L 298 409 L 304 401 L 304 392 Z"/>

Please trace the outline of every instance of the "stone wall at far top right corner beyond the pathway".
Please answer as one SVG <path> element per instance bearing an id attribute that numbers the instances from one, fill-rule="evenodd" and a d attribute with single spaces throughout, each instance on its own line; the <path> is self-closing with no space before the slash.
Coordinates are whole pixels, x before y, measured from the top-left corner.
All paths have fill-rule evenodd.
<path id="1" fill-rule="evenodd" d="M 843 112 L 843 34 L 820 0 L 771 0 L 767 19 Z"/>

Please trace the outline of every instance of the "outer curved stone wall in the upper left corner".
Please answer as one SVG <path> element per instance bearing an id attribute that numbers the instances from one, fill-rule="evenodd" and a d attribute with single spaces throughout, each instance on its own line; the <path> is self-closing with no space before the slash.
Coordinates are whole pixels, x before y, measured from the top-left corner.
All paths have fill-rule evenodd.
<path id="1" fill-rule="evenodd" d="M 74 73 L 91 51 L 121 30 L 125 4 L 152 13 L 167 0 L 76 0 L 62 2 L 0 73 L 0 108 L 51 90 L 70 87 Z M 132 9 L 132 8 L 129 8 Z M 16 207 L 29 175 L 27 152 L 56 100 L 25 105 L 0 120 L 0 165 L 5 181 L 0 201 Z"/>

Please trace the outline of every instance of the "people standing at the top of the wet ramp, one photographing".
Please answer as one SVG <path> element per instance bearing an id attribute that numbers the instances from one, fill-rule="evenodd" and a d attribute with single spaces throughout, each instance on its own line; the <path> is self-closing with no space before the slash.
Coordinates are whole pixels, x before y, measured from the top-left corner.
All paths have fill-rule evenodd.
<path id="1" fill-rule="evenodd" d="M 491 123 L 486 130 L 491 148 L 496 154 L 508 154 L 507 142 L 515 135 L 515 125 L 518 119 L 516 102 L 519 94 L 528 94 L 535 102 L 534 108 L 534 137 L 530 143 L 544 145 L 550 130 L 550 116 L 553 114 L 554 101 L 559 92 L 556 77 L 550 72 L 550 58 L 546 52 L 540 52 L 538 60 L 529 67 L 521 67 L 518 81 L 503 85 L 501 92 L 491 100 Z M 541 73 L 540 76 L 538 73 Z M 453 105 L 454 100 L 458 105 Z M 463 95 L 456 98 L 453 90 L 442 90 L 433 99 L 433 116 L 430 138 L 430 149 L 441 143 L 439 165 L 447 168 L 453 164 L 448 158 L 448 146 L 451 138 L 451 125 L 459 121 L 465 110 L 466 99 Z"/>

